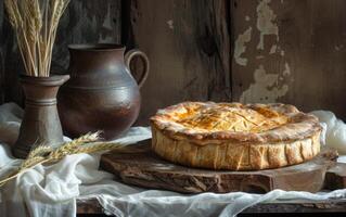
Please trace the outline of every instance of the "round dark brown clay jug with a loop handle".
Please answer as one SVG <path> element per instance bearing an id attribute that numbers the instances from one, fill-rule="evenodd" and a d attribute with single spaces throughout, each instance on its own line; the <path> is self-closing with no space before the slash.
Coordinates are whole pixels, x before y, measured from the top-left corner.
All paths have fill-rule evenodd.
<path id="1" fill-rule="evenodd" d="M 141 104 L 139 88 L 149 73 L 148 56 L 139 50 L 125 54 L 119 44 L 72 44 L 71 79 L 57 94 L 63 131 L 71 138 L 102 130 L 111 140 L 136 122 Z M 134 56 L 144 67 L 137 82 L 129 72 Z"/>

